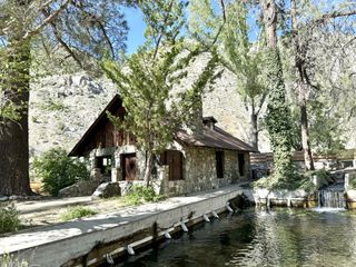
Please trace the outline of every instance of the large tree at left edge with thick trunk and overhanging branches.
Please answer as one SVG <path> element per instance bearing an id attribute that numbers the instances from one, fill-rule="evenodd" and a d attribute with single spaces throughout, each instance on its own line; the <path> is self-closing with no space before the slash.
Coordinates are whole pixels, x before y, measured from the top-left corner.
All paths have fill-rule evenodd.
<path id="1" fill-rule="evenodd" d="M 60 44 L 80 67 L 122 47 L 129 1 L 28 0 L 0 2 L 0 195 L 29 195 L 28 101 L 31 49 L 40 36 Z M 111 55 L 115 57 L 115 55 Z"/>

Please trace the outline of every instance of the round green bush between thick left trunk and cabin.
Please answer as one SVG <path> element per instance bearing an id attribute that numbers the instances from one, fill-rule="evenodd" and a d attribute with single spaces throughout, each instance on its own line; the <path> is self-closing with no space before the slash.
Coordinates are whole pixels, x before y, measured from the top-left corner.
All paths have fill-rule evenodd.
<path id="1" fill-rule="evenodd" d="M 52 196 L 58 196 L 59 190 L 65 187 L 89 178 L 86 165 L 69 158 L 61 148 L 51 149 L 34 158 L 31 168 L 36 177 L 41 179 L 42 189 Z"/>

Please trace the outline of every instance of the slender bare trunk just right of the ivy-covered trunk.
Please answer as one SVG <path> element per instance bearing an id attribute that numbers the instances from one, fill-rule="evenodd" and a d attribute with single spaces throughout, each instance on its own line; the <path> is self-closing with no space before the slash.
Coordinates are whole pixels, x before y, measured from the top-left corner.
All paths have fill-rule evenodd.
<path id="1" fill-rule="evenodd" d="M 304 60 L 303 51 L 298 40 L 298 22 L 297 22 L 297 4 L 295 0 L 290 0 L 290 18 L 293 41 L 295 47 L 295 66 L 297 73 L 297 90 L 298 90 L 298 106 L 300 110 L 300 125 L 301 125 L 301 147 L 304 151 L 304 162 L 307 170 L 314 170 L 314 160 L 309 144 L 308 132 L 308 113 L 306 102 L 306 86 L 304 82 Z"/>

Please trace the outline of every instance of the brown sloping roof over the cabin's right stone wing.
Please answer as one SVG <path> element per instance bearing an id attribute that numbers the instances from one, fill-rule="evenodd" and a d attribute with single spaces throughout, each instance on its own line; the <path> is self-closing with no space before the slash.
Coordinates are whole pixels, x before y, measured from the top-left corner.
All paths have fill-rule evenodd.
<path id="1" fill-rule="evenodd" d="M 186 146 L 222 148 L 238 151 L 258 152 L 257 149 L 215 126 L 215 129 L 204 127 L 202 134 L 188 135 L 184 130 L 177 132 L 177 139 Z"/>

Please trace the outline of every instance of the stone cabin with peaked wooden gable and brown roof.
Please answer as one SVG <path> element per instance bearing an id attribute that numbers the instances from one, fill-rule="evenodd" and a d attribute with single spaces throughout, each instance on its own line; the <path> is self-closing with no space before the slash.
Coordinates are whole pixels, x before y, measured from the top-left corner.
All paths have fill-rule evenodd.
<path id="1" fill-rule="evenodd" d="M 70 151 L 88 159 L 92 177 L 120 184 L 125 195 L 131 185 L 144 184 L 145 151 L 135 137 L 117 130 L 107 118 L 109 111 L 125 116 L 117 95 Z M 219 188 L 250 178 L 250 152 L 256 150 L 216 126 L 214 117 L 199 120 L 195 132 L 179 130 L 167 150 L 155 159 L 152 186 L 168 196 Z M 190 134 L 188 134 L 190 131 Z"/>

